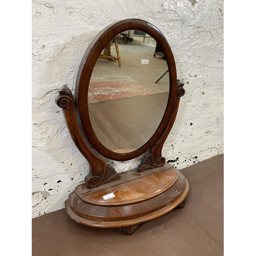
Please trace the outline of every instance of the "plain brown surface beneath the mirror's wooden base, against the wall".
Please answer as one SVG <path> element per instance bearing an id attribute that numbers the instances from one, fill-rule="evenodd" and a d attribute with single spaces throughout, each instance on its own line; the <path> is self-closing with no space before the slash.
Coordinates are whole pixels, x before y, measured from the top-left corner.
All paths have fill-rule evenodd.
<path id="1" fill-rule="evenodd" d="M 182 169 L 186 206 L 141 224 L 132 236 L 119 229 L 79 225 L 65 209 L 32 220 L 32 255 L 223 255 L 224 155 Z"/>

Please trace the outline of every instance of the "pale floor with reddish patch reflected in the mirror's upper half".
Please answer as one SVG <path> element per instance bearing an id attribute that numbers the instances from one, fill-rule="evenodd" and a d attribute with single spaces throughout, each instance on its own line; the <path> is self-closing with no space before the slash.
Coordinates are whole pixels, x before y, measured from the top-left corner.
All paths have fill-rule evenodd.
<path id="1" fill-rule="evenodd" d="M 145 38 L 145 42 L 147 40 Z M 89 103 L 169 91 L 168 73 L 155 83 L 168 69 L 166 60 L 159 55 L 154 57 L 155 47 L 142 46 L 141 43 L 143 37 L 134 37 L 134 41 L 126 45 L 118 39 L 121 67 L 117 61 L 97 60 L 90 81 Z M 152 44 L 156 45 L 153 38 Z M 117 56 L 114 44 L 111 54 Z M 148 64 L 141 64 L 142 59 L 147 59 Z"/>

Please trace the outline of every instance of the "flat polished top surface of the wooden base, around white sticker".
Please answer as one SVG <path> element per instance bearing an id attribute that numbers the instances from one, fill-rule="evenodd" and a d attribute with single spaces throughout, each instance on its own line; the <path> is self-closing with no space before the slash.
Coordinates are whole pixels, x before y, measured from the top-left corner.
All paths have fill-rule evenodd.
<path id="1" fill-rule="evenodd" d="M 170 188 L 178 179 L 176 168 L 158 168 L 157 172 L 139 174 L 137 169 L 121 174 L 121 179 L 88 189 L 86 184 L 76 187 L 76 195 L 83 201 L 96 205 L 127 205 L 153 198 Z M 162 170 L 161 170 L 162 169 Z M 104 200 L 103 196 L 113 193 L 114 197 Z"/>

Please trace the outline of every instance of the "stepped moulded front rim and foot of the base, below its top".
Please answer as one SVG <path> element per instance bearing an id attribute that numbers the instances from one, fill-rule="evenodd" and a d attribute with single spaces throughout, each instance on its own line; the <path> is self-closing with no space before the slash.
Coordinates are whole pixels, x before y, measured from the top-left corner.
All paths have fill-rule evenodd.
<path id="1" fill-rule="evenodd" d="M 189 185 L 184 175 L 178 170 L 177 172 L 178 179 L 172 186 L 145 201 L 131 203 L 131 200 L 128 200 L 129 204 L 117 206 L 96 205 L 81 200 L 76 191 L 73 191 L 69 200 L 65 202 L 66 211 L 70 218 L 79 224 L 101 228 L 120 228 L 126 234 L 131 235 L 139 224 L 165 215 L 178 206 L 184 207 Z"/>

